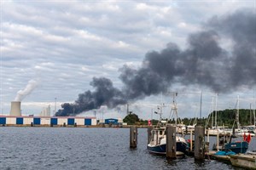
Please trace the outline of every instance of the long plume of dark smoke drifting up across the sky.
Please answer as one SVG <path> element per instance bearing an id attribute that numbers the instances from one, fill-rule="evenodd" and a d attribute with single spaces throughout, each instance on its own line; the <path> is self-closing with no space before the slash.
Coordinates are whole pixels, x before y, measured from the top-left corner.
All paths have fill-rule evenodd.
<path id="1" fill-rule="evenodd" d="M 222 39 L 223 38 L 223 39 Z M 225 39 L 229 49 L 221 46 Z M 189 47 L 181 50 L 168 43 L 160 52 L 151 51 L 139 69 L 124 65 L 119 69 L 121 90 L 107 78 L 93 78 L 94 92 L 79 94 L 74 104 L 63 104 L 56 116 L 79 114 L 124 105 L 128 101 L 165 93 L 172 85 L 199 85 L 218 93 L 228 93 L 241 86 L 256 84 L 256 15 L 253 11 L 237 11 L 224 17 L 213 17 L 204 30 L 188 37 Z"/>

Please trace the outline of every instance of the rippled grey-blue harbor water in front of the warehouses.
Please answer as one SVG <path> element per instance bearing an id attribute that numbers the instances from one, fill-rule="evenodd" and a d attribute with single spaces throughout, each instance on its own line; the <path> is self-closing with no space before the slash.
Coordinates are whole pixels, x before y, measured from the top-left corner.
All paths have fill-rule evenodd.
<path id="1" fill-rule="evenodd" d="M 242 169 L 149 154 L 146 128 L 138 129 L 136 149 L 130 149 L 129 138 L 129 128 L 0 127 L 0 169 Z M 253 138 L 249 150 L 255 146 Z"/>

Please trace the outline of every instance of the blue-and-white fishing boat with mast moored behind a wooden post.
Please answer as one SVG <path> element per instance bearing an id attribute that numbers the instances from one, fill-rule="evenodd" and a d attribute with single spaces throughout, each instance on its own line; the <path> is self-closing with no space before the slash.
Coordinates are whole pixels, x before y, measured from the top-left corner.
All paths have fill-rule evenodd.
<path id="1" fill-rule="evenodd" d="M 177 125 L 177 105 L 174 102 L 173 99 L 173 106 L 172 106 L 172 111 L 171 114 L 176 114 L 176 125 Z M 148 144 L 148 151 L 150 153 L 154 154 L 160 154 L 160 155 L 166 155 L 166 127 L 167 125 L 171 125 L 169 123 L 169 120 L 162 120 L 161 118 L 161 110 L 160 110 L 160 121 L 157 123 L 156 127 L 153 128 L 151 131 L 151 138 L 149 140 Z M 186 140 L 181 137 L 176 135 L 176 154 L 177 155 L 182 155 L 186 152 L 187 149 L 187 142 Z"/>

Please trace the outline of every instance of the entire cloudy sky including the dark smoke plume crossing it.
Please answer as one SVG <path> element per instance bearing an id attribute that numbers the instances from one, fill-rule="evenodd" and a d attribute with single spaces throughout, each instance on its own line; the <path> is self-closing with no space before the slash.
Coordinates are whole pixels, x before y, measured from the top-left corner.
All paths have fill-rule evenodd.
<path id="1" fill-rule="evenodd" d="M 173 97 L 180 117 L 255 108 L 255 0 L 2 0 L 0 9 L 1 115 L 15 100 L 24 116 L 66 104 L 99 119 L 124 118 L 127 104 L 158 118 Z"/>

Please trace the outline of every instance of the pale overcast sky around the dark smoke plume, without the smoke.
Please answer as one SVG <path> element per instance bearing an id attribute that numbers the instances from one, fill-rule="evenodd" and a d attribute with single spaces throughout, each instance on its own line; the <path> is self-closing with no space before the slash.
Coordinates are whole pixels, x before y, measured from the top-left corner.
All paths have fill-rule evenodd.
<path id="1" fill-rule="evenodd" d="M 87 90 L 93 92 L 95 89 L 90 85 L 93 77 L 106 77 L 113 82 L 113 87 L 121 89 L 124 87 L 124 82 L 120 80 L 120 68 L 123 68 L 123 65 L 140 69 L 147 54 L 161 53 L 169 47 L 167 44 L 170 42 L 177 44 L 181 51 L 186 51 L 189 48 L 189 35 L 205 29 L 206 23 L 209 23 L 212 17 L 221 19 L 235 14 L 236 11 L 249 11 L 255 19 L 255 5 L 255 0 L 3 0 L 1 113 L 9 115 L 10 102 L 17 99 L 17 94 L 25 93 L 27 95 L 21 97 L 23 115 L 38 115 L 48 105 L 51 105 L 53 114 L 55 99 L 58 110 L 63 103 L 73 103 L 79 94 Z M 254 26 L 255 24 L 256 21 Z M 255 34 L 254 30 L 251 61 L 256 65 Z M 219 41 L 226 54 L 233 53 L 232 41 L 235 40 L 229 37 L 221 37 Z M 252 67 L 252 63 L 248 65 Z M 252 71 L 255 72 L 255 66 Z M 151 118 L 152 111 L 156 111 L 156 105 L 160 105 L 161 101 L 166 105 L 172 103 L 172 92 L 177 92 L 179 116 L 199 116 L 201 91 L 202 116 L 207 116 L 211 111 L 212 96 L 216 93 L 218 110 L 234 109 L 237 95 L 240 108 L 250 108 L 250 104 L 255 107 L 256 76 L 251 75 L 254 76 L 254 81 L 248 84 L 239 83 L 234 90 L 232 88 L 227 93 L 224 93 L 224 90 L 219 90 L 221 92 L 218 93 L 217 88 L 212 88 L 207 83 L 194 82 L 190 85 L 188 82 L 176 81 L 163 97 L 160 94 L 150 94 L 133 99 L 131 103 L 129 101 L 130 109 L 140 118 Z M 219 74 L 218 77 L 225 78 L 225 75 Z M 241 75 L 237 75 L 237 80 L 241 80 Z M 221 81 L 222 78 L 218 78 L 218 82 Z M 25 92 L 25 88 L 32 90 Z M 119 106 L 119 110 L 110 111 L 102 107 L 97 111 L 98 118 L 102 118 L 102 112 L 104 118 L 123 118 L 126 108 Z M 91 115 L 93 111 L 80 114 Z"/>

